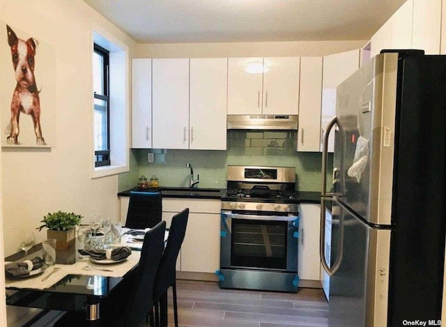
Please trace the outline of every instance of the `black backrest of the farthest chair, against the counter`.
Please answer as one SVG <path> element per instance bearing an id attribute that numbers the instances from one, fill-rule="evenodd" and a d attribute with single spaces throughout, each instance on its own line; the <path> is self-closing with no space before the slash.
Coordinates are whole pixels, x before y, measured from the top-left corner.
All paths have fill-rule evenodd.
<path id="1" fill-rule="evenodd" d="M 162 220 L 161 192 L 130 192 L 125 227 L 152 228 Z"/>

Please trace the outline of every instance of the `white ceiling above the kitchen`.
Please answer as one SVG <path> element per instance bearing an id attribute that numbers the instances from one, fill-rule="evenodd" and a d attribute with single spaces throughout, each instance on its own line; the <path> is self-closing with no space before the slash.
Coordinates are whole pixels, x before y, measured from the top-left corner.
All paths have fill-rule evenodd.
<path id="1" fill-rule="evenodd" d="M 368 40 L 406 0 L 84 0 L 137 43 Z"/>

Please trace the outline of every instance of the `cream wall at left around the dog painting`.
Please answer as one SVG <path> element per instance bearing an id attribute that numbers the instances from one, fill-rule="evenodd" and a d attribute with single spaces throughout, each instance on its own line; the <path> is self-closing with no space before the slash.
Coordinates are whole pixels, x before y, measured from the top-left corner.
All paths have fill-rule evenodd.
<path id="1" fill-rule="evenodd" d="M 38 227 L 49 211 L 74 211 L 86 219 L 97 212 L 118 219 L 118 176 L 91 178 L 91 24 L 127 44 L 130 57 L 136 43 L 81 0 L 0 0 L 0 20 L 45 40 L 56 52 L 56 148 L 8 148 L 1 153 L 8 255 L 20 250 L 20 231 Z M 36 236 L 42 241 L 46 231 L 36 231 Z M 8 307 L 8 326 L 26 312 Z"/>

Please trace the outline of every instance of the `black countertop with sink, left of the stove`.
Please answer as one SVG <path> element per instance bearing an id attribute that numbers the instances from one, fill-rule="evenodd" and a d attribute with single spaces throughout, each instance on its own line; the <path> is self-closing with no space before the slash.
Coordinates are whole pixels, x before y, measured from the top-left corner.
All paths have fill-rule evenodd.
<path id="1" fill-rule="evenodd" d="M 130 197 L 130 191 L 138 192 L 157 192 L 161 191 L 163 197 L 176 197 L 183 199 L 221 199 L 226 192 L 225 188 L 157 188 L 138 190 L 137 188 L 130 188 L 123 192 L 118 192 L 118 197 Z"/>

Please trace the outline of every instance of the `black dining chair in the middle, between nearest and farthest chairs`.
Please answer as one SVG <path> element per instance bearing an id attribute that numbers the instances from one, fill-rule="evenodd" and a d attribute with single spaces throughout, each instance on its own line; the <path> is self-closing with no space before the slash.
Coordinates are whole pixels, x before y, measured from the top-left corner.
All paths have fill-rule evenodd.
<path id="1" fill-rule="evenodd" d="M 167 326 L 167 289 L 169 289 L 169 287 L 172 287 L 174 294 L 174 320 L 175 326 L 178 327 L 176 259 L 178 258 L 181 244 L 183 244 L 188 218 L 189 208 L 185 208 L 172 218 L 167 245 L 162 254 L 160 266 L 156 273 L 155 286 L 153 287 L 153 301 L 155 305 L 155 324 L 157 327 L 160 327 L 160 316 L 164 318 L 161 322 L 164 326 Z M 160 312 L 158 312 L 158 303 L 160 303 Z"/>

